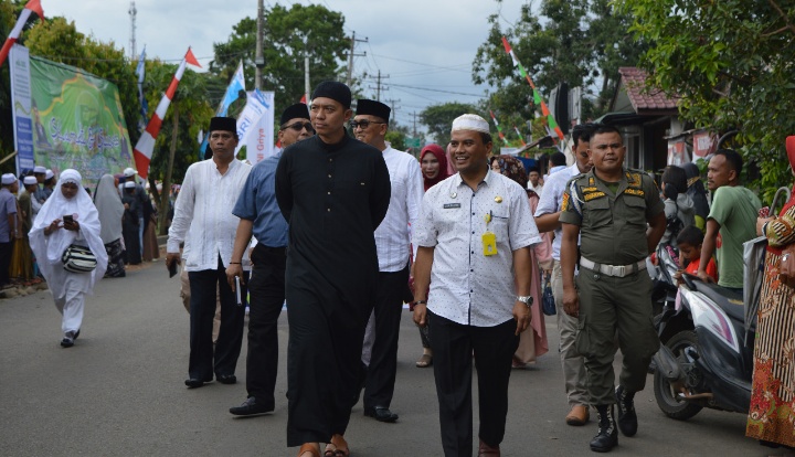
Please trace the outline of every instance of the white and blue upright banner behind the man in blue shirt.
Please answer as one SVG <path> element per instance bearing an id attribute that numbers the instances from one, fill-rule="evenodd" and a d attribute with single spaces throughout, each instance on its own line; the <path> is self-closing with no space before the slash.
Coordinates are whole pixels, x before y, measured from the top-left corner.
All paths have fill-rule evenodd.
<path id="1" fill-rule="evenodd" d="M 276 153 L 274 150 L 274 93 L 250 92 L 246 106 L 237 118 L 237 137 L 245 145 L 246 159 L 256 164 L 266 157 Z M 235 151 L 236 152 L 236 151 Z"/>

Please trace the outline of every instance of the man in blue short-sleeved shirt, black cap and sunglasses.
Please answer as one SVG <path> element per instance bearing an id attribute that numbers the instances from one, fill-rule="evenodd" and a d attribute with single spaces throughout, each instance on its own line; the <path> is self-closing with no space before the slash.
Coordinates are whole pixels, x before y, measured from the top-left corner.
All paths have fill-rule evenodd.
<path id="1" fill-rule="evenodd" d="M 315 134 L 309 123 L 309 109 L 303 103 L 282 113 L 278 137 L 283 148 Z M 276 166 L 284 149 L 252 168 L 232 214 L 240 217 L 232 261 L 226 278 L 232 290 L 235 278 L 246 284 L 243 253 L 252 235 L 257 244 L 251 253 L 252 275 L 248 281 L 248 353 L 246 354 L 246 391 L 242 405 L 230 408 L 236 416 L 252 416 L 274 411 L 278 338 L 276 326 L 285 300 L 285 263 L 287 256 L 287 221 L 276 203 Z"/>

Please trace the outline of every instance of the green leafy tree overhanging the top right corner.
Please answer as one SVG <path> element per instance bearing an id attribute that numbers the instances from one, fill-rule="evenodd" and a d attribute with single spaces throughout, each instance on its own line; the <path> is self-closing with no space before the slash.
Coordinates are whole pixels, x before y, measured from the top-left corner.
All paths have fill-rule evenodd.
<path id="1" fill-rule="evenodd" d="M 765 195 L 792 185 L 784 140 L 795 134 L 795 12 L 781 0 L 617 0 L 651 45 L 647 84 L 681 96 L 696 127 L 739 130 L 738 149 L 760 167 Z M 786 11 L 786 12 L 785 12 Z"/>

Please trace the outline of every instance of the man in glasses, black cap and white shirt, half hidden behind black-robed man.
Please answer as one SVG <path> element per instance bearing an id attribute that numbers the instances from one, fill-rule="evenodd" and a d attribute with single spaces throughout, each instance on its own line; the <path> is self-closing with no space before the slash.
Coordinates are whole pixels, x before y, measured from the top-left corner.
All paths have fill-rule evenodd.
<path id="1" fill-rule="evenodd" d="M 379 283 L 364 339 L 365 349 L 371 350 L 362 357 L 362 362 L 369 364 L 364 382 L 364 415 L 380 422 L 398 419 L 398 414 L 390 411 L 390 404 L 398 372 L 403 296 L 409 287 L 409 227 L 415 226 L 423 198 L 423 178 L 417 160 L 385 142 L 390 114 L 390 107 L 380 102 L 359 99 L 351 121 L 358 140 L 383 152 L 392 185 L 386 216 L 375 230 Z"/>

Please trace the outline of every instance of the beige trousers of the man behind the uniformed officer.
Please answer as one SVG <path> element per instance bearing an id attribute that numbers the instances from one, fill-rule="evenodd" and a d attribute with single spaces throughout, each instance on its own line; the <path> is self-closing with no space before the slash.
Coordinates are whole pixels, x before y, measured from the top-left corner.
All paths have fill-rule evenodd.
<path id="1" fill-rule="evenodd" d="M 569 397 L 569 405 L 587 405 L 589 393 L 585 385 L 585 360 L 577 352 L 576 331 L 577 318 L 569 316 L 563 309 L 563 274 L 560 261 L 554 261 L 552 269 L 552 295 L 555 299 L 558 331 L 560 332 L 560 358 L 563 365 L 563 382 Z"/>

